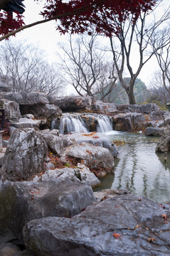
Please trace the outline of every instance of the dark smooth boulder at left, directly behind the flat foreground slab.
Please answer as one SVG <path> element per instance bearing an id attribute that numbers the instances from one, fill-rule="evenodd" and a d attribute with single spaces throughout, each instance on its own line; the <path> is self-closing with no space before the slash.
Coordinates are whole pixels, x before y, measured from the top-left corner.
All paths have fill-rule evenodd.
<path id="1" fill-rule="evenodd" d="M 29 220 L 58 216 L 70 218 L 95 201 L 92 188 L 81 182 L 11 182 L 1 184 L 1 233 L 10 229 L 22 240 L 23 226 Z"/>

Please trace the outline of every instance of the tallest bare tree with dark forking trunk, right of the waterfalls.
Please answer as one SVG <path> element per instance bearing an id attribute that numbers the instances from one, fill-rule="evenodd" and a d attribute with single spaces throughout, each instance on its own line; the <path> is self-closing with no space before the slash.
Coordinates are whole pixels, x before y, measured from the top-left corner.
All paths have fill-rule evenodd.
<path id="1" fill-rule="evenodd" d="M 155 33 L 159 32 L 159 27 L 162 26 L 164 21 L 169 19 L 169 10 L 156 21 L 154 17 L 154 12 L 144 12 L 140 14 L 139 19 L 136 19 L 132 14 L 129 20 L 125 22 L 120 22 L 117 16 L 115 16 L 115 24 L 117 24 L 118 31 L 114 36 L 110 37 L 110 46 L 112 50 L 113 60 L 115 62 L 115 67 L 117 69 L 117 75 L 119 77 L 119 82 L 121 83 L 124 90 L 127 92 L 129 97 L 129 104 L 135 104 L 134 98 L 134 82 L 137 79 L 140 71 L 142 70 L 145 63 L 152 58 L 152 55 L 156 53 L 159 49 L 164 48 L 166 45 L 166 40 L 161 41 L 157 47 L 154 49 L 150 47 L 150 42 Z M 149 15 L 153 15 L 153 21 L 150 21 L 148 26 Z M 138 49 L 138 50 L 137 50 Z M 132 55 L 137 53 L 138 63 L 132 63 Z M 128 73 L 128 75 L 127 75 Z M 124 75 L 126 74 L 126 75 Z M 127 84 L 124 77 L 128 76 L 131 79 Z"/>

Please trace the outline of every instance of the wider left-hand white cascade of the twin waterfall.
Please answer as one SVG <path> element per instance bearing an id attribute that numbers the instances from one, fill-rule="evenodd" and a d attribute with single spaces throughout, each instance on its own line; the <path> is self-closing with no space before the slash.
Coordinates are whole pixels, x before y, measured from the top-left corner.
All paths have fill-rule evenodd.
<path id="1" fill-rule="evenodd" d="M 66 115 L 60 120 L 60 134 L 69 134 L 70 132 L 88 132 L 80 116 Z"/>

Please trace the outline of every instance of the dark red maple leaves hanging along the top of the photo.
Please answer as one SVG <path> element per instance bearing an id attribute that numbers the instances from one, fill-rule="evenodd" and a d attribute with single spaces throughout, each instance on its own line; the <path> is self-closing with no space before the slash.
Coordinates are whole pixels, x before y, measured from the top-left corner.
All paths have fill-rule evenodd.
<path id="1" fill-rule="evenodd" d="M 40 0 L 34 0 L 40 1 Z M 41 11 L 43 18 L 60 19 L 57 29 L 60 33 L 83 33 L 93 28 L 97 33 L 110 36 L 119 30 L 114 22 L 116 15 L 120 21 L 133 14 L 134 20 L 142 11 L 148 11 L 157 0 L 46 0 Z M 4 35 L 23 26 L 23 16 L 15 18 L 6 12 L 0 13 L 0 33 Z"/>

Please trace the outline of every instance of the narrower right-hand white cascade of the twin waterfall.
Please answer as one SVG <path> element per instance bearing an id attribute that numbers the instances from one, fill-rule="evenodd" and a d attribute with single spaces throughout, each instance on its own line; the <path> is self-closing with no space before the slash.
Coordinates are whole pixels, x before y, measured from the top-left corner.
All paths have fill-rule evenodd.
<path id="1" fill-rule="evenodd" d="M 112 120 L 107 116 L 100 115 L 97 120 L 97 132 L 112 131 Z"/>

